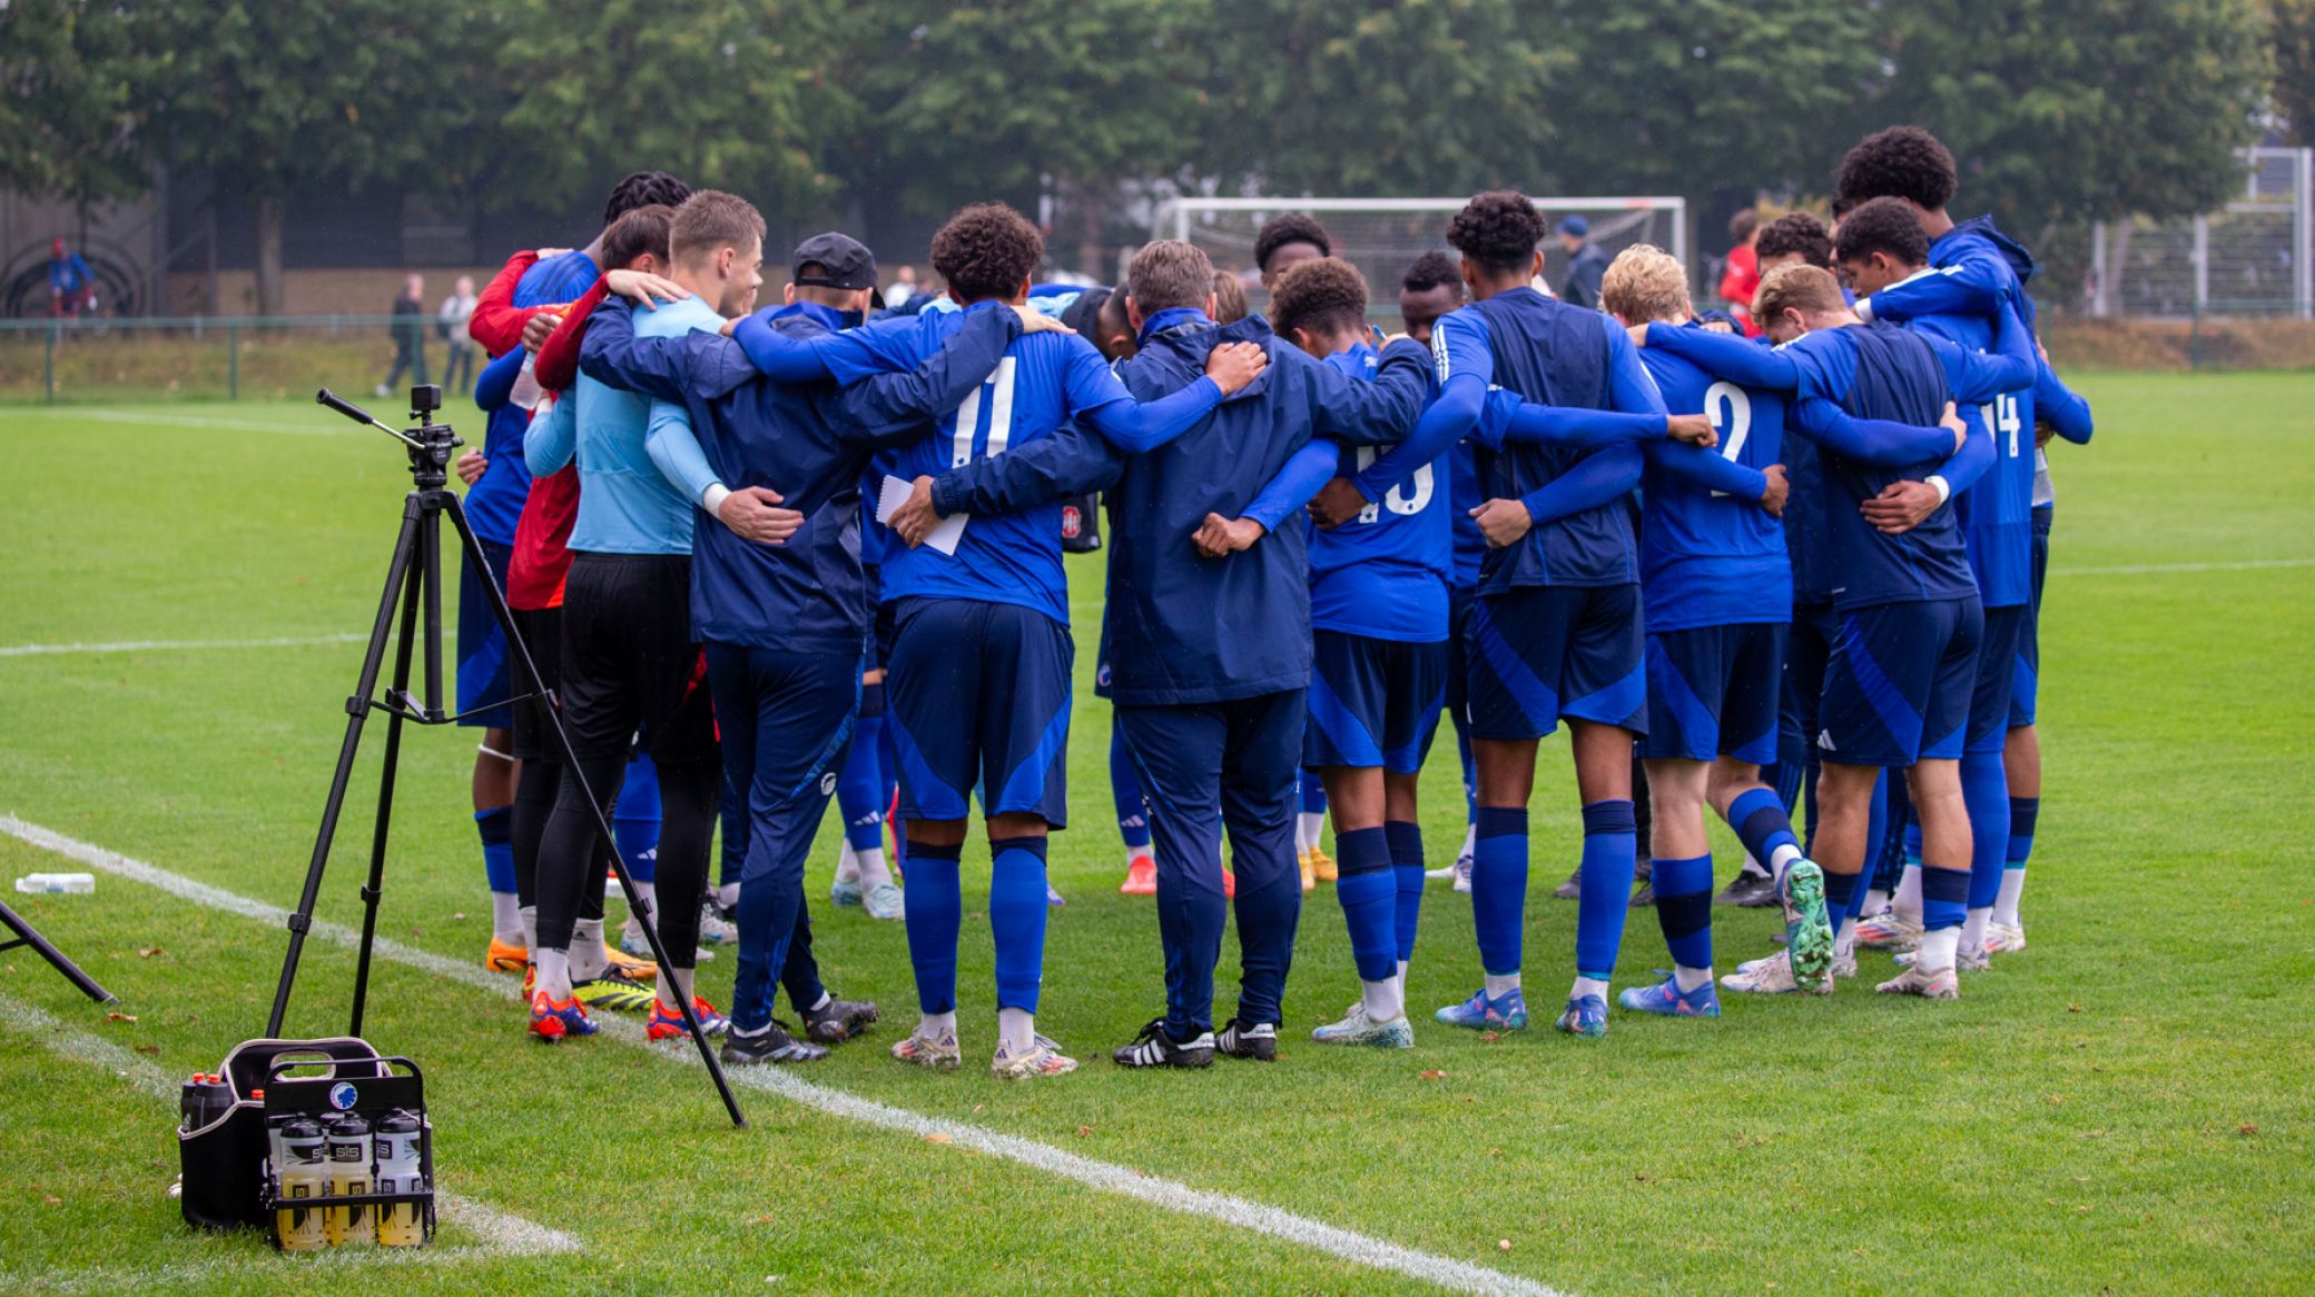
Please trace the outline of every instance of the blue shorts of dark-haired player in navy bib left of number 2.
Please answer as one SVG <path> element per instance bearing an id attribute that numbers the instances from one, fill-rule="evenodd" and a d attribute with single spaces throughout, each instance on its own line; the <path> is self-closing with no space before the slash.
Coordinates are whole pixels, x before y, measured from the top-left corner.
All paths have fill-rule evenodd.
<path id="1" fill-rule="evenodd" d="M 1484 594 L 1465 652 L 1472 738 L 1544 738 L 1560 717 L 1648 733 L 1639 585 Z"/>

